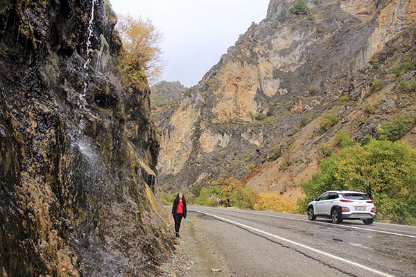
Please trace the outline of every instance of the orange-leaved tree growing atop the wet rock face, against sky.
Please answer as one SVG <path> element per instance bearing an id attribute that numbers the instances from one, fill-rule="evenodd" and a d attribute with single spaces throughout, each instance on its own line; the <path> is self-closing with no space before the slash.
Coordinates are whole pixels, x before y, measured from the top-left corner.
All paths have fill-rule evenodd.
<path id="1" fill-rule="evenodd" d="M 121 69 L 131 82 L 140 84 L 146 77 L 153 82 L 162 75 L 162 33 L 149 20 L 119 16 L 117 30 L 123 42 Z"/>

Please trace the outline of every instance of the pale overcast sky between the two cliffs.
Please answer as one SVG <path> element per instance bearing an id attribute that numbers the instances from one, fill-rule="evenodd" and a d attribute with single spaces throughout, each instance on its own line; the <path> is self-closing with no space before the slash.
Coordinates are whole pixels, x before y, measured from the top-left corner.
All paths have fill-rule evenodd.
<path id="1" fill-rule="evenodd" d="M 150 19 L 163 33 L 162 80 L 191 87 L 227 53 L 269 0 L 110 0 L 117 14 Z"/>

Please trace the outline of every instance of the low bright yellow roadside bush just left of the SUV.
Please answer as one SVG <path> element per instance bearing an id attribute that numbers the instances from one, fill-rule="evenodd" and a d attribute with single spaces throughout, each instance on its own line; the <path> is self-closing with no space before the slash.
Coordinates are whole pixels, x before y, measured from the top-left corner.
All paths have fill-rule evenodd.
<path id="1" fill-rule="evenodd" d="M 296 202 L 273 193 L 260 193 L 254 205 L 256 211 L 275 211 L 279 213 L 295 213 Z"/>

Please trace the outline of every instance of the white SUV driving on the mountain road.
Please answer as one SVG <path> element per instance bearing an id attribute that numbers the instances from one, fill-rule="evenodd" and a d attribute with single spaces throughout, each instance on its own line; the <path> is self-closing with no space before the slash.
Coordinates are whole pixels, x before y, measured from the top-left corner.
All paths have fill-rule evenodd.
<path id="1" fill-rule="evenodd" d="M 343 220 L 363 220 L 372 224 L 376 218 L 376 208 L 372 200 L 359 191 L 329 190 L 308 204 L 308 219 L 330 217 L 333 223 Z"/>

